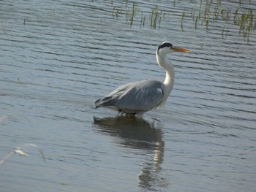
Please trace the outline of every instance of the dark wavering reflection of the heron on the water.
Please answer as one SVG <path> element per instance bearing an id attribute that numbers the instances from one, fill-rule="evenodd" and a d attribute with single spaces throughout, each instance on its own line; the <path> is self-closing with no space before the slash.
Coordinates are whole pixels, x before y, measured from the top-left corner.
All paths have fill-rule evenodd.
<path id="1" fill-rule="evenodd" d="M 142 150 L 139 187 L 152 190 L 159 185 L 165 186 L 165 179 L 159 176 L 165 150 L 159 122 L 148 123 L 143 119 L 124 116 L 102 119 L 94 117 L 94 125 L 97 125 L 96 128 L 101 133 L 118 138 L 115 139 L 118 145 Z"/>

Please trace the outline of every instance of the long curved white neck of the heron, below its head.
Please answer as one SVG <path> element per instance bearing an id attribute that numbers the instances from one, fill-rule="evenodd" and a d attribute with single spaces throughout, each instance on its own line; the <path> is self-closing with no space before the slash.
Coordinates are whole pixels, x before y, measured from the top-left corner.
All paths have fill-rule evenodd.
<path id="1" fill-rule="evenodd" d="M 174 83 L 174 69 L 173 64 L 171 64 L 170 61 L 167 61 L 165 56 L 166 55 L 157 54 L 157 64 L 159 64 L 159 66 L 161 66 L 166 71 L 164 85 L 166 88 L 166 92 L 169 95 Z"/>

